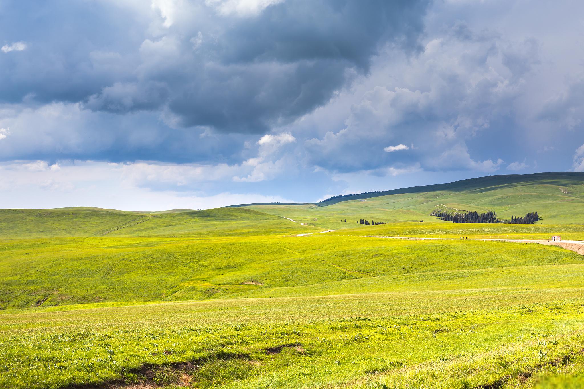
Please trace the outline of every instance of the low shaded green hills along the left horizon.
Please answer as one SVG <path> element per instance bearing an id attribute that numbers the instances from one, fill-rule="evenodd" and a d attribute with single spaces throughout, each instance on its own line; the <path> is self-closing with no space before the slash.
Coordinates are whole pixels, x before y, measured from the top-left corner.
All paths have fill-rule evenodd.
<path id="1" fill-rule="evenodd" d="M 127 212 L 100 208 L 0 209 L 0 239 L 91 236 L 223 236 L 314 232 L 245 208 Z"/>

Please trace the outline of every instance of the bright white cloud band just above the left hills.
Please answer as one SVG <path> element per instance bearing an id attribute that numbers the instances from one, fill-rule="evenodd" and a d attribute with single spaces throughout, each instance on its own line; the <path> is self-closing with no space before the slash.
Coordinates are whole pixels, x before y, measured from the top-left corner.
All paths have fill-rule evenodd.
<path id="1" fill-rule="evenodd" d="M 194 173 L 204 180 L 225 166 L 206 167 Z M 190 167 L 190 170 L 197 170 Z M 177 191 L 152 183 L 188 176 L 189 166 L 157 163 L 106 163 L 92 161 L 0 162 L 0 204 L 5 208 L 58 208 L 97 206 L 128 211 L 162 211 L 174 208 L 208 209 L 253 202 L 294 202 L 280 196 L 232 193 L 218 190 Z M 224 174 L 220 173 L 221 176 Z M 201 177 L 204 176 L 204 177 Z M 187 179 L 190 179 L 187 177 Z M 103 196 L 103 193 L 109 195 Z"/>

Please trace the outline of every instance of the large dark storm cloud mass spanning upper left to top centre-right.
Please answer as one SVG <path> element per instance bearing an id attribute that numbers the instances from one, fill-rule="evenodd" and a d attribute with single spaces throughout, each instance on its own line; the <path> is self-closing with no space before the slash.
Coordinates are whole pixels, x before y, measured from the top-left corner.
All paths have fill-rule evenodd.
<path id="1" fill-rule="evenodd" d="M 165 110 L 182 127 L 265 132 L 366 73 L 380 44 L 415 48 L 428 1 L 296 0 L 245 16 L 166 1 L 177 15 L 154 27 L 150 4 L 129 0 L 3 2 L 2 37 L 29 47 L 0 55 L 0 100 Z"/>

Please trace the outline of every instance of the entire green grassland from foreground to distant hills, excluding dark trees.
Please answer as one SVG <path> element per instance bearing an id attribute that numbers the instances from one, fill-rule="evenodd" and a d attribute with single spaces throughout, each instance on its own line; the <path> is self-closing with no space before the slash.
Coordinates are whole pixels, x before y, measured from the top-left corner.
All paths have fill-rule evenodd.
<path id="1" fill-rule="evenodd" d="M 0 387 L 584 387 L 584 256 L 472 240 L 584 240 L 582 176 L 509 177 L 325 206 L 0 210 Z M 443 201 L 543 220 L 428 216 Z"/>

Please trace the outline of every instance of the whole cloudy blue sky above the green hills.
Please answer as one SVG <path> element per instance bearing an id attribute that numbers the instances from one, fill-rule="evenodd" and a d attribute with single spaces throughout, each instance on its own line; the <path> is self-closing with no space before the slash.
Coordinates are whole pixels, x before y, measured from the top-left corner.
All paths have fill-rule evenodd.
<path id="1" fill-rule="evenodd" d="M 0 0 L 0 208 L 584 171 L 584 2 Z"/>

